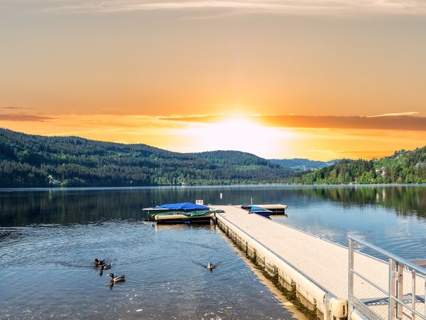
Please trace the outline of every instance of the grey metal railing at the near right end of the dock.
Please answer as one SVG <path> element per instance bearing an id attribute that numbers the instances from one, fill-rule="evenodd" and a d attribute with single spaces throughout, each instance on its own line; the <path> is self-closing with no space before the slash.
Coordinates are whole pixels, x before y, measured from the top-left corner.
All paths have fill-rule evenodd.
<path id="1" fill-rule="evenodd" d="M 359 238 L 351 236 L 348 238 L 349 320 L 351 320 L 351 311 L 356 311 L 356 314 L 361 314 L 361 317 L 366 317 L 368 319 L 426 320 L 426 269 Z M 361 274 L 354 270 L 354 243 L 362 245 L 386 257 L 389 266 L 387 289 L 384 289 L 378 283 L 374 283 L 373 280 L 368 279 L 368 275 Z M 357 255 L 359 254 L 364 255 L 357 252 Z M 375 289 L 374 292 L 380 292 L 383 296 L 376 297 L 375 299 L 361 299 L 361 297 L 356 297 L 356 294 L 354 294 L 354 284 L 357 278 L 355 277 L 359 278 L 359 281 L 361 281 L 364 286 L 366 285 L 364 282 L 366 282 Z"/>

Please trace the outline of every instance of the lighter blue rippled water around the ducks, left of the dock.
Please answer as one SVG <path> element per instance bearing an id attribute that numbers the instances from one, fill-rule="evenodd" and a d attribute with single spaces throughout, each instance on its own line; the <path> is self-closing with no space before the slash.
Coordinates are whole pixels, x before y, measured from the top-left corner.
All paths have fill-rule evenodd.
<path id="1" fill-rule="evenodd" d="M 2 228 L 0 233 L 9 233 L 0 242 L 6 257 L 0 265 L 8 275 L 8 292 L 0 292 L 5 306 L 0 318 L 290 316 L 272 294 L 256 294 L 267 289 L 209 226 L 162 228 L 110 220 Z M 111 272 L 126 274 L 126 282 L 110 287 L 110 270 L 100 275 L 92 265 L 95 257 L 112 262 Z M 205 267 L 208 262 L 217 265 L 213 273 Z"/>

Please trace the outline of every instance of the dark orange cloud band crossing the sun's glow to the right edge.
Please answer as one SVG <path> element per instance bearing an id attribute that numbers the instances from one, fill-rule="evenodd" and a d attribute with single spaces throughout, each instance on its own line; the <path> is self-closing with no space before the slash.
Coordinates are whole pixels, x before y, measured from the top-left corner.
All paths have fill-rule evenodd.
<path id="1" fill-rule="evenodd" d="M 305 116 L 305 115 L 256 115 L 254 121 L 266 127 L 312 128 L 312 129 L 381 129 L 426 131 L 426 117 L 417 117 L 414 112 L 381 114 L 380 116 Z M 180 122 L 215 123 L 232 119 L 226 115 L 176 116 L 160 119 Z"/>

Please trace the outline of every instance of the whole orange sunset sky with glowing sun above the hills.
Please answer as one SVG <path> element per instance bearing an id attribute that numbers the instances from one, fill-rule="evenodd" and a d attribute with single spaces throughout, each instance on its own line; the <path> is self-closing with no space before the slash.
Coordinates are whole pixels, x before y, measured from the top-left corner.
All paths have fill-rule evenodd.
<path id="1" fill-rule="evenodd" d="M 0 127 L 381 157 L 426 144 L 424 0 L 2 0 Z"/>

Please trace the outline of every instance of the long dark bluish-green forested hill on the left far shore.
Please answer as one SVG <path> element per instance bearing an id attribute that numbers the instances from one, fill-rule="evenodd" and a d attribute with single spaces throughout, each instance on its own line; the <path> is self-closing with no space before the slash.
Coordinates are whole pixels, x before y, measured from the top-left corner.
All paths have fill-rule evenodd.
<path id="1" fill-rule="evenodd" d="M 0 128 L 0 188 L 280 183 L 293 174 L 254 155 L 244 157 L 255 162 L 238 163 L 235 151 L 218 152 L 229 157 Z"/>

